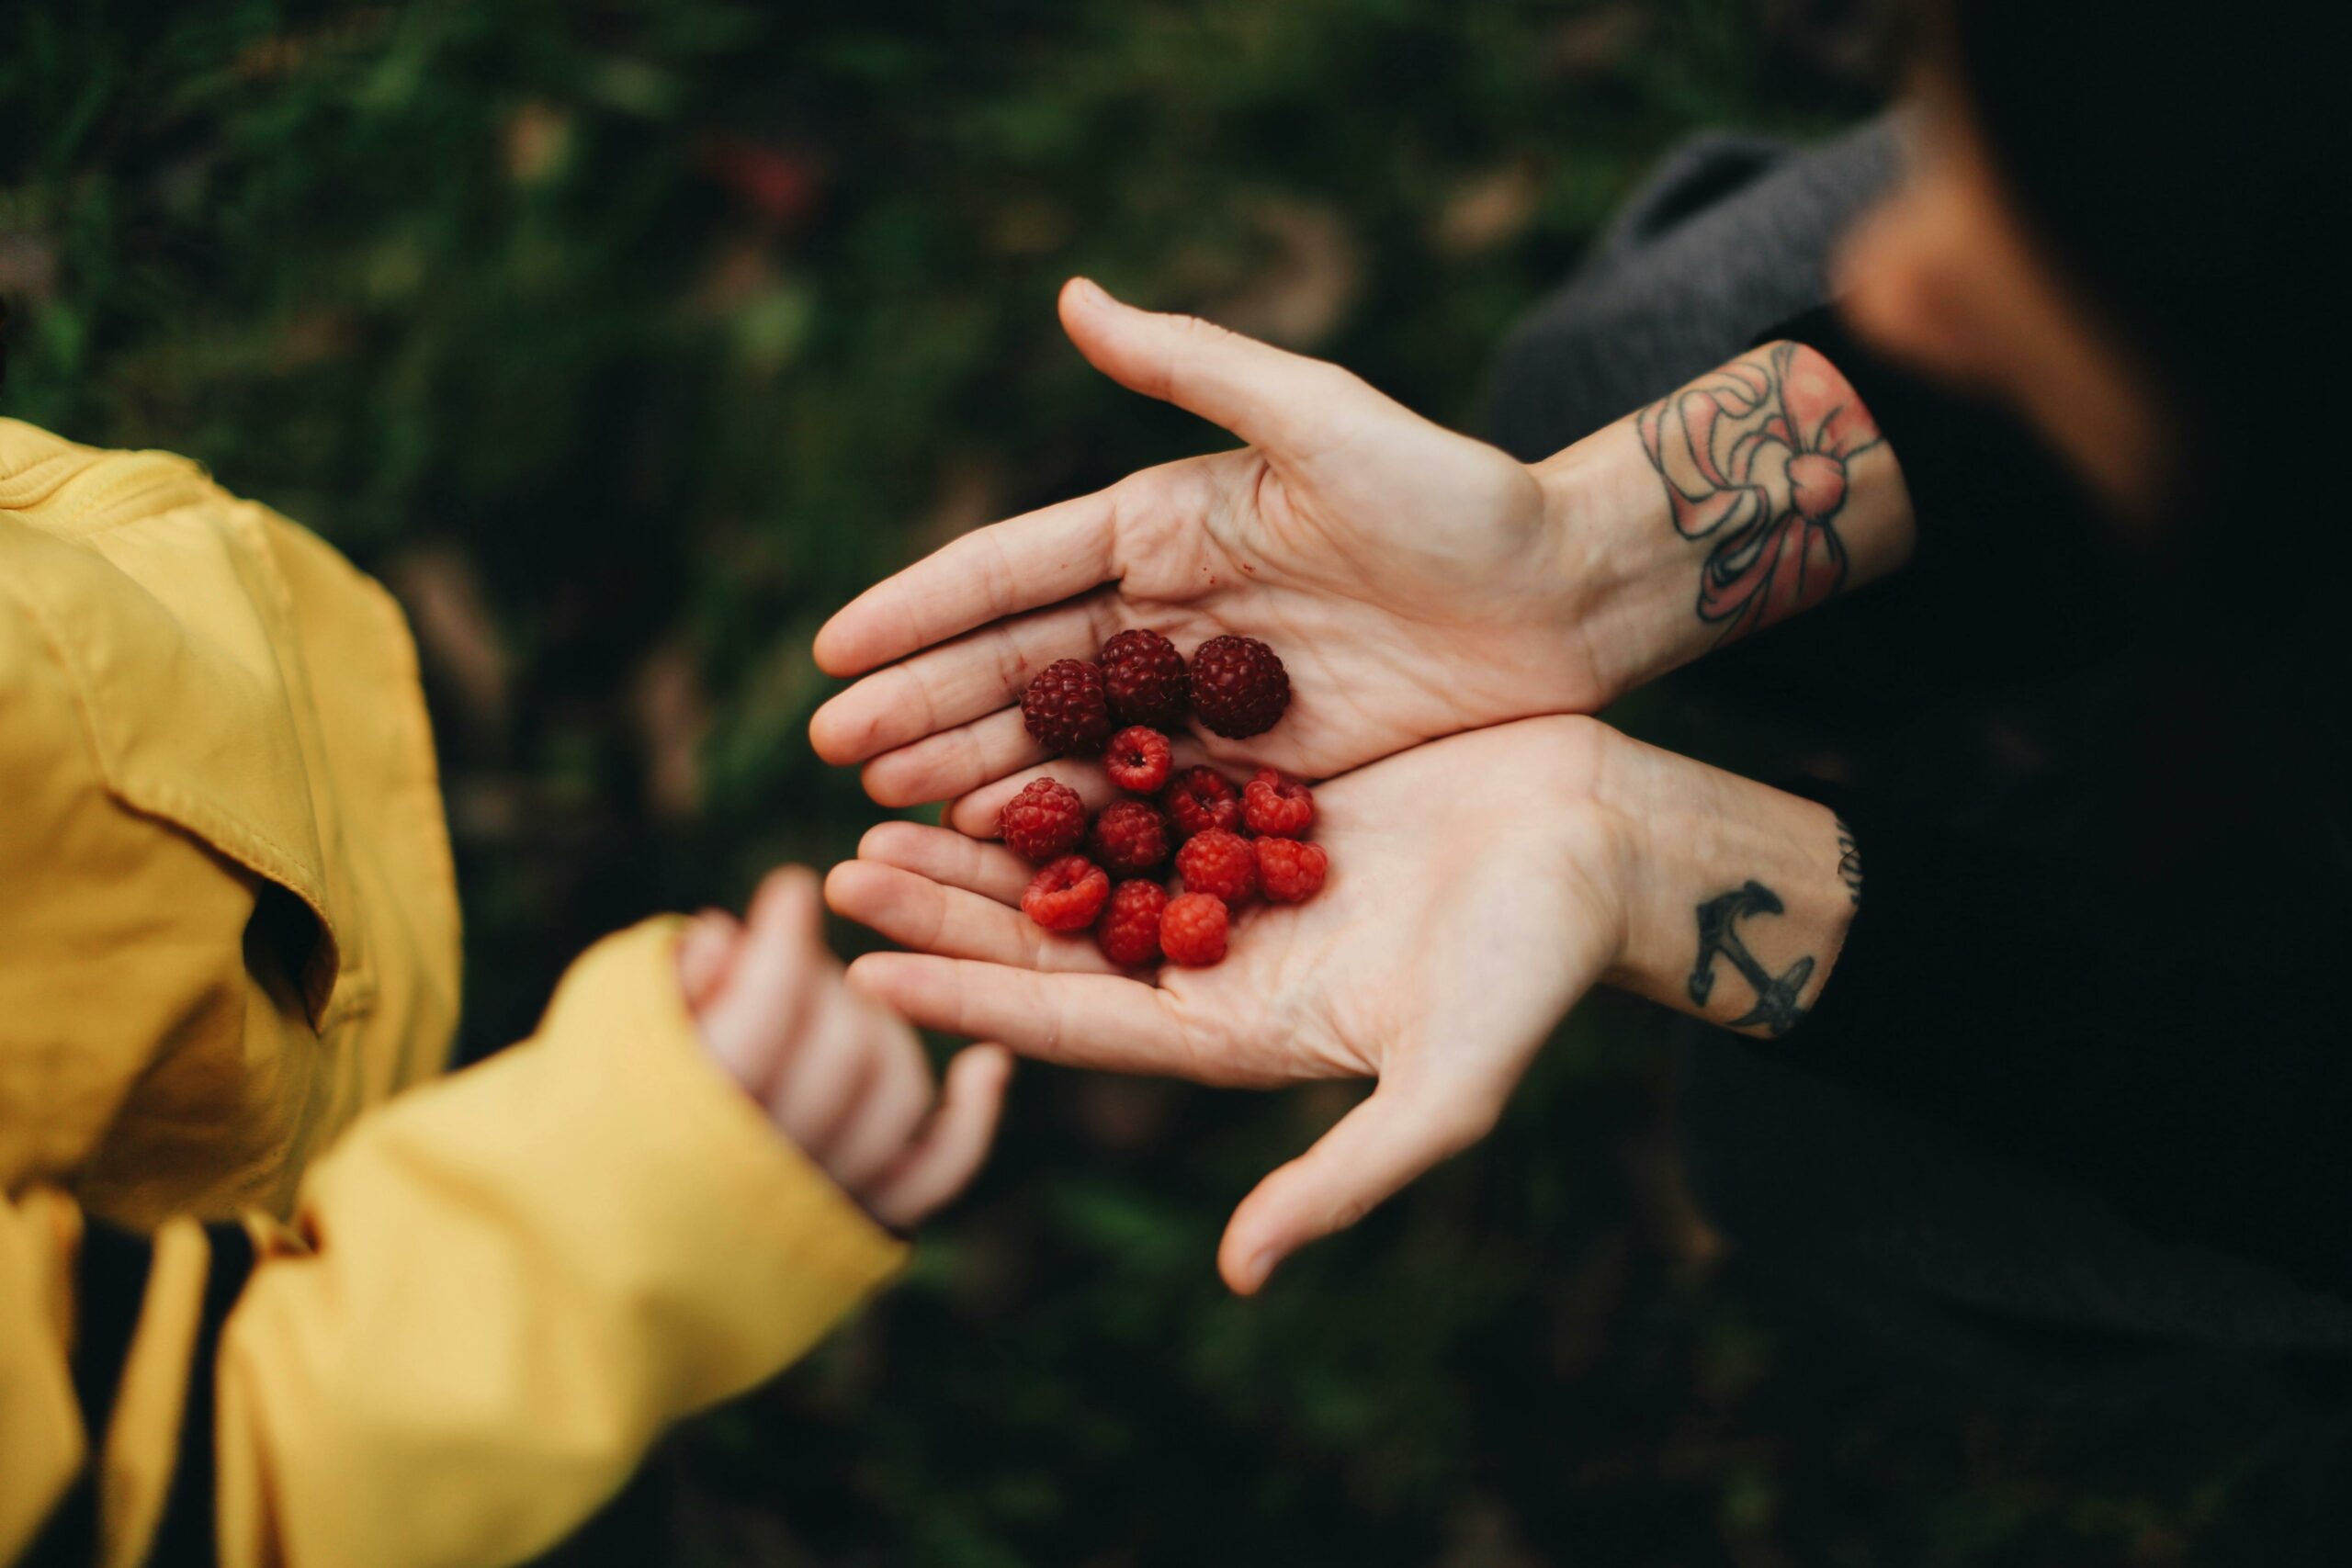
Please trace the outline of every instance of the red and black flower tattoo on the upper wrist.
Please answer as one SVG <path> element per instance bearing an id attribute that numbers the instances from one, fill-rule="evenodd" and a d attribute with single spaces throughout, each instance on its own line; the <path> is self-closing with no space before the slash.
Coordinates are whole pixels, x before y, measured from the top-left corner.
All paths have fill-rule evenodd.
<path id="1" fill-rule="evenodd" d="M 1846 465 L 1879 444 L 1870 409 L 1802 343 L 1773 343 L 1637 416 L 1675 529 L 1712 541 L 1698 618 L 1745 637 L 1846 583 Z"/>

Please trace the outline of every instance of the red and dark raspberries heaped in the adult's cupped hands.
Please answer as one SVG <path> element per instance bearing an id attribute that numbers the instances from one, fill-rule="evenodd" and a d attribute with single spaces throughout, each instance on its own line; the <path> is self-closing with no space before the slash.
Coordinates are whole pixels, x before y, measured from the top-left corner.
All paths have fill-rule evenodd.
<path id="1" fill-rule="evenodd" d="M 1127 795 L 1089 820 L 1077 790 L 1033 778 L 1004 804 L 1004 844 L 1040 865 L 1021 910 L 1047 931 L 1091 926 L 1103 957 L 1127 969 L 1202 969 L 1225 957 L 1232 912 L 1251 898 L 1312 898 L 1331 867 L 1305 842 L 1315 795 L 1272 769 L 1242 790 L 1216 769 L 1176 771 L 1164 733 L 1190 710 L 1221 736 L 1256 736 L 1289 701 L 1282 661 L 1254 637 L 1211 637 L 1185 668 L 1167 637 L 1131 630 L 1105 642 L 1098 663 L 1047 665 L 1021 696 L 1030 733 L 1054 752 L 1101 748 Z M 1127 729 L 1110 733 L 1112 722 Z M 1174 893 L 1155 879 L 1169 858 Z"/>

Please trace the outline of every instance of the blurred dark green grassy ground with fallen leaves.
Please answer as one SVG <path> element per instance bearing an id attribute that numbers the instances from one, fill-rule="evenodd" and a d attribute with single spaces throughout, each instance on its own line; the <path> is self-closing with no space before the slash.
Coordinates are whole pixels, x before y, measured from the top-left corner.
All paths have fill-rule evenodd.
<path id="1" fill-rule="evenodd" d="M 1065 275 L 1463 423 L 1677 139 L 1882 92 L 1799 0 L 5 9 L 0 414 L 186 451 L 400 592 L 468 1056 L 597 933 L 851 851 L 877 813 L 804 743 L 830 609 L 1221 442 L 1084 369 Z M 1668 1084 L 1597 1001 L 1496 1138 L 1244 1305 L 1225 1213 L 1350 1093 L 1028 1070 L 908 1286 L 555 1561 L 2324 1561 L 2272 1544 L 2352 1458 L 2324 1399 L 1877 1366 L 1717 1246 Z"/>

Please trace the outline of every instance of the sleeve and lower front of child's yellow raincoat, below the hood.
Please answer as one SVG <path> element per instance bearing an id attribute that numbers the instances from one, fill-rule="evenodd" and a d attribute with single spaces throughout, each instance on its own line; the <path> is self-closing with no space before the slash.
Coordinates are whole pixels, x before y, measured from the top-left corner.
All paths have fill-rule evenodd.
<path id="1" fill-rule="evenodd" d="M 99 1561 L 136 1563 L 169 1528 L 172 1434 L 207 1408 L 212 1432 L 181 1436 L 209 1439 L 226 1563 L 524 1559 L 668 1422 L 783 1368 L 898 1265 L 708 1058 L 673 950 L 670 922 L 609 938 L 529 1041 L 362 1117 L 292 1227 L 249 1220 L 259 1262 L 209 1366 L 221 1272 L 193 1222 L 158 1232 L 111 1399 Z M 54 1194 L 0 1208 L 0 1559 L 89 1443 L 75 1239 Z"/>

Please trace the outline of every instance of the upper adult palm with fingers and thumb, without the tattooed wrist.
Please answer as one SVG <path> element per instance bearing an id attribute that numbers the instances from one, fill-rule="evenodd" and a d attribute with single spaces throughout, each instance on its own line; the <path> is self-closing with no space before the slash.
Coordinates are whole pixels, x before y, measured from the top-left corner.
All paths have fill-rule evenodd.
<path id="1" fill-rule="evenodd" d="M 1294 705 L 1214 759 L 1343 773 L 1484 724 L 1599 701 L 1534 473 L 1348 371 L 1192 317 L 1063 289 L 1063 324 L 1122 386 L 1247 447 L 969 534 L 875 585 L 816 637 L 863 675 L 811 724 L 889 806 L 950 799 L 1042 759 L 1030 675 L 1145 625 L 1190 651 L 1261 637 Z M 901 663 L 889 663 L 901 661 Z M 887 665 L 887 668 L 884 668 Z"/>

